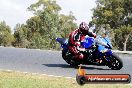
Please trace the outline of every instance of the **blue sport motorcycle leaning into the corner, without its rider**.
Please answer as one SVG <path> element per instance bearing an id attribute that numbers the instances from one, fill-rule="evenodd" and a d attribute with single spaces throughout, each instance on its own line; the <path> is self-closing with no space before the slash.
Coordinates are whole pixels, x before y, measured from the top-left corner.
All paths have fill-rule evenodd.
<path id="1" fill-rule="evenodd" d="M 73 58 L 73 54 L 68 49 L 68 39 L 56 38 L 56 41 L 61 44 L 62 58 L 71 66 L 76 67 L 80 64 L 84 65 L 97 65 L 108 66 L 112 70 L 120 70 L 123 67 L 123 62 L 118 55 L 112 52 L 112 45 L 109 38 L 97 38 L 86 37 L 81 46 L 86 51 L 80 51 L 85 58 L 81 61 L 77 61 Z"/>

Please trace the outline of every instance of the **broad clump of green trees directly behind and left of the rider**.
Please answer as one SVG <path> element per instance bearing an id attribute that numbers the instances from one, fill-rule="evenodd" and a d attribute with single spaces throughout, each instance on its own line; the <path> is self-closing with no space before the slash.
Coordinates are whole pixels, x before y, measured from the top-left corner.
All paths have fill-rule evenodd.
<path id="1" fill-rule="evenodd" d="M 54 0 L 39 0 L 28 10 L 34 16 L 25 25 L 16 25 L 14 46 L 59 49 L 56 38 L 67 38 L 71 30 L 77 27 L 72 12 L 69 15 L 59 14 L 61 7 Z"/>

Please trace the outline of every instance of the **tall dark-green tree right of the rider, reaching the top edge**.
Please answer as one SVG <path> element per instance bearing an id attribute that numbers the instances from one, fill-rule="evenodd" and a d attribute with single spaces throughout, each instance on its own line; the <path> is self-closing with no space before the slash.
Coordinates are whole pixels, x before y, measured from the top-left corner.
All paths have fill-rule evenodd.
<path id="1" fill-rule="evenodd" d="M 129 39 L 132 32 L 132 0 L 97 0 L 96 3 L 92 23 L 98 30 L 102 25 L 106 25 L 106 30 L 110 26 L 110 31 L 115 34 L 113 45 L 119 50 L 127 50 L 127 42 L 132 40 Z"/>

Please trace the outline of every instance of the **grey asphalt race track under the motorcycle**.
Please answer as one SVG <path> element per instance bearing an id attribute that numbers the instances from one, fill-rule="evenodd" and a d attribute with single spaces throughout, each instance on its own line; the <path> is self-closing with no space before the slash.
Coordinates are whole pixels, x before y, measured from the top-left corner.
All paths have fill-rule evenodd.
<path id="1" fill-rule="evenodd" d="M 111 70 L 107 66 L 83 66 L 88 74 L 130 74 L 132 57 L 120 55 L 123 60 L 121 70 Z M 70 67 L 61 57 L 60 51 L 0 47 L 0 69 L 21 72 L 75 77 L 77 69 Z"/>

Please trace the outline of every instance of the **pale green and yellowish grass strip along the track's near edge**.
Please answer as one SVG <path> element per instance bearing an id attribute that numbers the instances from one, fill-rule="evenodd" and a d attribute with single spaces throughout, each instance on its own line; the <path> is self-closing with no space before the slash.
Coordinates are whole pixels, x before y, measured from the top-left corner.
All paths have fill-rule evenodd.
<path id="1" fill-rule="evenodd" d="M 0 71 L 0 88 L 132 88 L 132 86 L 123 84 L 85 84 L 80 86 L 72 78 Z"/>

